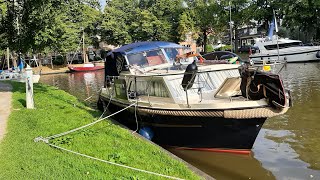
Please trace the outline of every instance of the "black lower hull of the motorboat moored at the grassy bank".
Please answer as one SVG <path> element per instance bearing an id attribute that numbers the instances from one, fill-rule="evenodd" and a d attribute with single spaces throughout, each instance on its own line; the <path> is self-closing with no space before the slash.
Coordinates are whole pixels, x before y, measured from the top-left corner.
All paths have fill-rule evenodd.
<path id="1" fill-rule="evenodd" d="M 101 101 L 103 104 L 109 102 L 107 99 Z M 124 106 L 110 101 L 108 110 L 114 113 Z M 143 107 L 137 107 L 137 120 L 139 128 L 149 127 L 152 130 L 154 134 L 152 141 L 161 146 L 196 150 L 250 150 L 266 118 L 224 118 L 215 116 L 214 114 L 221 112 L 215 111 L 199 110 L 198 115 L 180 111 L 178 114 L 185 114 L 177 116 L 170 112 L 168 113 L 170 115 L 146 113 Z M 203 116 L 199 116 L 202 112 Z M 213 115 L 208 116 L 208 113 Z M 137 128 L 135 107 L 115 115 L 114 119 L 130 129 Z"/>

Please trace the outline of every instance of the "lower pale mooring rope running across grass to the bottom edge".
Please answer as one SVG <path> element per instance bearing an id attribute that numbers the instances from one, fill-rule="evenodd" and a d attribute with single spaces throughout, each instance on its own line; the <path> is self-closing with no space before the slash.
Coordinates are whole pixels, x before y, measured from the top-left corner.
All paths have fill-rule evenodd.
<path id="1" fill-rule="evenodd" d="M 96 157 L 92 157 L 92 156 L 89 156 L 89 155 L 86 155 L 86 154 L 81 154 L 81 153 L 78 153 L 78 152 L 75 152 L 75 151 L 72 151 L 72 150 L 69 150 L 69 149 L 65 149 L 65 148 L 56 146 L 54 144 L 48 143 L 48 145 L 51 146 L 51 147 L 63 150 L 63 151 L 67 151 L 69 153 L 73 153 L 73 154 L 76 154 L 76 155 L 79 155 L 79 156 L 83 156 L 83 157 L 86 157 L 86 158 L 89 158 L 89 159 L 101 161 L 101 162 L 104 162 L 104 163 L 107 163 L 107 164 L 112 164 L 112 165 L 115 165 L 115 166 L 120 166 L 120 167 L 123 167 L 123 168 L 131 169 L 131 170 L 135 170 L 135 171 L 140 171 L 140 172 L 144 172 L 144 173 L 148 173 L 148 174 L 153 174 L 153 175 L 156 175 L 156 176 L 161 176 L 161 177 L 165 177 L 165 178 L 169 178 L 169 179 L 182 180 L 181 178 L 178 178 L 178 177 L 159 174 L 159 173 L 155 173 L 155 172 L 152 172 L 152 171 L 147 171 L 147 170 L 143 170 L 143 169 L 139 169 L 139 168 L 135 168 L 135 167 L 131 167 L 131 166 L 126 166 L 126 165 L 123 165 L 123 164 L 118 164 L 118 163 L 106 161 L 106 160 L 99 159 L 99 158 L 96 158 Z"/>

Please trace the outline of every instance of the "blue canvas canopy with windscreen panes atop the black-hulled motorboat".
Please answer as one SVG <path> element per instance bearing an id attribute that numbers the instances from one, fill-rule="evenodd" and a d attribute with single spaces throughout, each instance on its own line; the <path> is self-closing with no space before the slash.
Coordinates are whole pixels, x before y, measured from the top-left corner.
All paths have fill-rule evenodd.
<path id="1" fill-rule="evenodd" d="M 168 68 L 177 57 L 181 63 L 191 63 L 196 57 L 184 56 L 190 53 L 189 47 L 164 41 L 145 41 L 124 45 L 107 54 L 105 75 L 119 76 L 121 71 L 149 71 Z"/>

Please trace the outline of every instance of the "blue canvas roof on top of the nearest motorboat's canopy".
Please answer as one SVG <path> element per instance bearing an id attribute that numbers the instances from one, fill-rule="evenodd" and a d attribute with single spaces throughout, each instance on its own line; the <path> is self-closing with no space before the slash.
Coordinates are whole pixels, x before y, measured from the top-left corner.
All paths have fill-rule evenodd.
<path id="1" fill-rule="evenodd" d="M 142 51 L 149 51 L 153 49 L 159 48 L 186 48 L 184 46 L 172 43 L 172 42 L 165 42 L 165 41 L 143 41 L 143 42 L 136 42 L 128 45 L 121 46 L 111 52 L 119 52 L 121 54 L 135 54 Z M 108 55 L 110 55 L 108 53 Z"/>

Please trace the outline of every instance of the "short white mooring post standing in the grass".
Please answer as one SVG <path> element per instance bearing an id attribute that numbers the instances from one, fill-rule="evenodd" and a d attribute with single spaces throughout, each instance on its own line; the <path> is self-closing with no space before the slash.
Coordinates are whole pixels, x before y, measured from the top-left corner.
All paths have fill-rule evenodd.
<path id="1" fill-rule="evenodd" d="M 26 68 L 26 102 L 27 102 L 27 109 L 34 108 L 33 102 L 33 72 L 32 68 L 27 65 Z"/>

